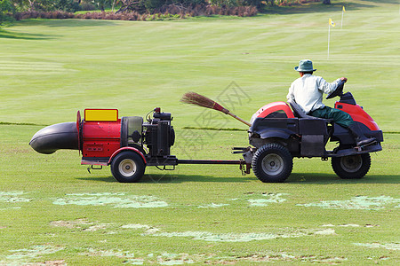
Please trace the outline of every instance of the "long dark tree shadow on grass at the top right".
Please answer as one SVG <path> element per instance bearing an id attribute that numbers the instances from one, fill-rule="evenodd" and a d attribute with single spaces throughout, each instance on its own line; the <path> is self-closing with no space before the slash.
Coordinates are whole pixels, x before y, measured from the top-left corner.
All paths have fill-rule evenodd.
<path id="1" fill-rule="evenodd" d="M 365 2 L 380 3 L 380 1 L 365 1 Z M 390 4 L 392 2 L 388 1 L 386 3 Z M 360 3 L 347 3 L 347 2 L 322 4 L 322 2 L 316 2 L 316 3 L 292 5 L 292 6 L 267 6 L 261 13 L 291 15 L 291 14 L 301 14 L 301 13 L 332 12 L 332 11 L 341 11 L 343 5 L 346 6 L 346 11 L 355 11 L 359 9 L 375 7 L 375 5 L 373 4 L 360 4 Z"/>

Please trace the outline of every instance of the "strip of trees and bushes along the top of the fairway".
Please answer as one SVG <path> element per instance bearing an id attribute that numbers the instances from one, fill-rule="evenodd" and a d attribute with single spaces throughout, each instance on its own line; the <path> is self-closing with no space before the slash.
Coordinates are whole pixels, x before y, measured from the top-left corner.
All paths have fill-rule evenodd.
<path id="1" fill-rule="evenodd" d="M 138 16 L 143 14 L 166 13 L 180 14 L 180 17 L 212 14 L 253 16 L 266 5 L 308 2 L 320 0 L 0 0 L 0 24 L 28 18 L 138 20 Z M 331 1 L 323 2 L 330 4 Z M 73 14 L 95 10 L 103 14 Z"/>

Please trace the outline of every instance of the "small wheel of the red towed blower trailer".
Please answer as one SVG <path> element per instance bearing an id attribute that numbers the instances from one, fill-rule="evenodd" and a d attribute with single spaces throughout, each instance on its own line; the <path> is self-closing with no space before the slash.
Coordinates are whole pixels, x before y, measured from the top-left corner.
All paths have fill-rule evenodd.
<path id="1" fill-rule="evenodd" d="M 145 168 L 140 154 L 133 152 L 119 153 L 111 162 L 111 174 L 121 183 L 139 182 Z"/>

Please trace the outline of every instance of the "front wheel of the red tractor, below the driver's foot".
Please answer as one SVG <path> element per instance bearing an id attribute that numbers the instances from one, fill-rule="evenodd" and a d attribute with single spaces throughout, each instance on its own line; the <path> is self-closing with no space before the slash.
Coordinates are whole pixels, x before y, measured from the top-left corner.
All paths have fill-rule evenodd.
<path id="1" fill-rule="evenodd" d="M 371 167 L 370 153 L 332 157 L 333 171 L 342 179 L 363 178 Z"/>

